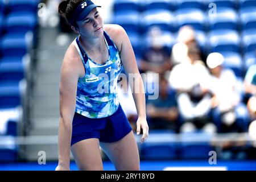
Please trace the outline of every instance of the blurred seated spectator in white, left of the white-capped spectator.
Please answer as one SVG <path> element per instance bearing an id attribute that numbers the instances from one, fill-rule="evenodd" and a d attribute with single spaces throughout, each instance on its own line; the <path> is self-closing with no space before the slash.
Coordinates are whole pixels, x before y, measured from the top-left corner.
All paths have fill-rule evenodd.
<path id="1" fill-rule="evenodd" d="M 209 81 L 209 72 L 203 61 L 200 60 L 199 49 L 192 44 L 187 47 L 178 43 L 180 55 L 176 59 L 181 63 L 174 66 L 170 73 L 169 82 L 177 90 L 177 105 L 184 123 L 180 132 L 193 132 L 197 129 L 214 133 L 216 126 L 209 120 L 210 94 L 205 89 Z M 183 54 L 182 54 L 183 53 Z M 187 55 L 185 55 L 187 53 Z"/>

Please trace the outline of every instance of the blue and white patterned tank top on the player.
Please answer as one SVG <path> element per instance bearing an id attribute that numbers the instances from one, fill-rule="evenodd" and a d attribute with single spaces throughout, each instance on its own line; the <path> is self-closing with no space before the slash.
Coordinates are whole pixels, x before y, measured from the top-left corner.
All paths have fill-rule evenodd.
<path id="1" fill-rule="evenodd" d="M 117 79 L 123 66 L 117 47 L 105 31 L 104 39 L 109 50 L 104 64 L 90 59 L 79 42 L 79 36 L 73 42 L 85 68 L 84 77 L 77 82 L 75 111 L 88 118 L 108 117 L 119 106 Z"/>

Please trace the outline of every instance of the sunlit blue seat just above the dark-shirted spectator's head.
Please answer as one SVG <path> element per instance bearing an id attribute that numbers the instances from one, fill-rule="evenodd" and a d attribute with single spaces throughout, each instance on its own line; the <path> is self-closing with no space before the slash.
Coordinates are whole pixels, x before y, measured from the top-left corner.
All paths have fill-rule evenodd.
<path id="1" fill-rule="evenodd" d="M 174 16 L 168 10 L 158 9 L 144 11 L 141 24 L 144 32 L 147 32 L 153 26 L 158 26 L 162 31 L 175 30 Z"/>

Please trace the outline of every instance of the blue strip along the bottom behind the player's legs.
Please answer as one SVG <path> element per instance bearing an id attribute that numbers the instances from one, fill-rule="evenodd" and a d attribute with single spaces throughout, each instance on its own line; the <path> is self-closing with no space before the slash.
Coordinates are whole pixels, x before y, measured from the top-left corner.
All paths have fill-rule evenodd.
<path id="1" fill-rule="evenodd" d="M 0 171 L 52 171 L 57 162 L 0 163 Z M 77 170 L 75 162 L 71 162 L 71 170 Z M 114 171 L 113 164 L 104 161 L 104 170 Z M 210 165 L 208 160 L 175 160 L 175 161 L 141 161 L 142 171 L 187 171 L 187 170 L 227 170 L 227 171 L 256 171 L 256 160 L 217 160 Z"/>

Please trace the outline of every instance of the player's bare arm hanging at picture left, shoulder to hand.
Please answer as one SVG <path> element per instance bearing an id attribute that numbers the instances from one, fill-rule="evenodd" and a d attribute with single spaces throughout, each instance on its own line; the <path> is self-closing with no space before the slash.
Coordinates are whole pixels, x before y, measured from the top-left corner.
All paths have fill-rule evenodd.
<path id="1" fill-rule="evenodd" d="M 77 80 L 82 61 L 71 45 L 65 53 L 60 74 L 59 164 L 56 170 L 69 170 L 72 121 L 76 107 Z"/>

